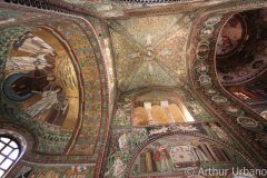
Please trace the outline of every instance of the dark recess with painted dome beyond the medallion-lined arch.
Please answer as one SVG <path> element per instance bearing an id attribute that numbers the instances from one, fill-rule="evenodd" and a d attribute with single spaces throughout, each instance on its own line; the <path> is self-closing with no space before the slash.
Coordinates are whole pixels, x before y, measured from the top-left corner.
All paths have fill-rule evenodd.
<path id="1" fill-rule="evenodd" d="M 264 34 L 266 9 L 248 10 L 233 16 L 222 27 L 218 41 L 222 36 L 224 29 L 228 30 L 229 44 L 240 44 L 239 50 L 231 56 L 221 58 L 216 51 L 216 72 L 220 85 L 239 99 L 248 105 L 255 112 L 261 113 L 266 110 L 266 37 Z M 247 23 L 247 30 L 240 26 L 241 20 L 235 18 L 243 17 Z M 235 23 L 230 21 L 236 21 Z M 230 34 L 230 31 L 234 34 Z M 241 33 L 247 34 L 241 36 Z M 218 42 L 217 42 L 218 44 Z M 218 48 L 217 48 L 218 49 Z M 261 115 L 260 115 L 261 116 Z"/>

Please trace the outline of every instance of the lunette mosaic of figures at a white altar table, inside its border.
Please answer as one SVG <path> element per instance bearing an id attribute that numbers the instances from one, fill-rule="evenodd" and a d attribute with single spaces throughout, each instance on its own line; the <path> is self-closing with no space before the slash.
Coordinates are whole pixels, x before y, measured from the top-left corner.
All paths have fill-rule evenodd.
<path id="1" fill-rule="evenodd" d="M 221 144 L 196 136 L 174 135 L 148 144 L 129 167 L 130 177 L 166 177 L 184 176 L 188 167 L 198 172 L 210 166 L 230 169 L 249 165 Z"/>

